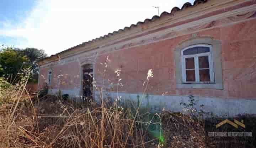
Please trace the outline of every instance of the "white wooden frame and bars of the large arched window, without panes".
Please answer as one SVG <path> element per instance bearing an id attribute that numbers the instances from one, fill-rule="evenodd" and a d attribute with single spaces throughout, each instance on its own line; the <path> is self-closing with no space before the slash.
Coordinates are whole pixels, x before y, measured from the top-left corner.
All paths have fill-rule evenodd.
<path id="1" fill-rule="evenodd" d="M 193 48 L 193 47 L 209 47 L 210 52 L 206 53 L 198 53 L 194 55 L 183 55 L 183 51 Z M 199 63 L 198 63 L 198 57 L 201 56 L 208 56 L 208 61 L 209 61 L 209 71 L 210 71 L 210 81 L 200 81 L 200 76 L 199 76 Z M 195 70 L 195 77 L 196 81 L 186 81 L 186 61 L 185 58 L 194 58 L 194 70 Z M 207 44 L 196 44 L 192 46 L 188 46 L 185 49 L 181 50 L 181 64 L 182 64 L 182 82 L 183 83 L 214 83 L 215 78 L 214 78 L 214 66 L 213 66 L 213 53 L 212 53 L 212 45 L 207 45 Z M 208 69 L 208 68 L 200 68 L 201 69 Z M 192 69 L 191 69 L 192 70 Z"/>

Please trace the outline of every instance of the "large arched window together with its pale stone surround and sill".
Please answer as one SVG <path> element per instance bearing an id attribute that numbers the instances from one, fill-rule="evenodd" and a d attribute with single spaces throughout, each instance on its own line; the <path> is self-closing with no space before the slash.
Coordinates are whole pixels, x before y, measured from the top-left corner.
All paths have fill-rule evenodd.
<path id="1" fill-rule="evenodd" d="M 222 41 L 189 38 L 177 45 L 174 59 L 177 89 L 223 89 Z"/>

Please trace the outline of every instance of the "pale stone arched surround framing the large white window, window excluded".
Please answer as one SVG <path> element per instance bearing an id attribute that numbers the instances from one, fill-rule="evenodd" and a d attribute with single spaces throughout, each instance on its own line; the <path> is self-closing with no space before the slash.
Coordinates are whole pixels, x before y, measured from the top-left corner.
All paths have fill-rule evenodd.
<path id="1" fill-rule="evenodd" d="M 183 83 L 182 82 L 182 59 L 181 51 L 186 47 L 196 44 L 212 45 L 213 67 L 214 67 L 214 83 Z M 174 59 L 176 63 L 176 87 L 182 88 L 200 88 L 200 89 L 223 89 L 222 80 L 222 42 L 211 37 L 193 37 L 189 40 L 182 41 L 174 51 Z"/>

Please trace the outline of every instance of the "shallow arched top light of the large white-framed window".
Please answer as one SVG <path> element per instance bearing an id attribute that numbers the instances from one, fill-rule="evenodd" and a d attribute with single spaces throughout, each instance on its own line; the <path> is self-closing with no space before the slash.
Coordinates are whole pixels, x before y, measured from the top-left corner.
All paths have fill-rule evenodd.
<path id="1" fill-rule="evenodd" d="M 196 55 L 199 53 L 207 53 L 210 52 L 211 45 L 199 44 L 192 45 L 182 50 L 182 55 Z"/>

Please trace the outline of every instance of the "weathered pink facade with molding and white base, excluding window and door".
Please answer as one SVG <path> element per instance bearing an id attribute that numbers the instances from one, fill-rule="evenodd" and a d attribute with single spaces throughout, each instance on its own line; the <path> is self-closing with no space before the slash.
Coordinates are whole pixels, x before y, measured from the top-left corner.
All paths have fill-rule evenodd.
<path id="1" fill-rule="evenodd" d="M 62 90 L 63 93 L 79 96 L 81 64 L 92 63 L 98 87 L 104 86 L 104 90 L 114 98 L 119 79 L 115 71 L 121 69 L 123 87 L 119 87 L 118 91 L 126 97 L 134 98 L 143 92 L 146 74 L 149 69 L 153 69 L 154 77 L 150 79 L 146 92 L 153 98 L 151 104 L 154 108 L 160 108 L 161 101 L 166 109 L 179 111 L 181 108 L 177 104 L 180 100 L 193 95 L 198 98 L 199 103 L 218 115 L 256 113 L 256 4 L 253 2 L 256 3 L 251 1 L 252 6 L 246 8 L 240 8 L 244 4 L 233 6 L 240 8 L 239 11 L 199 20 L 193 18 L 191 23 L 169 25 L 169 28 L 162 27 L 164 30 L 150 30 L 134 38 L 110 41 L 93 47 L 91 51 L 74 53 L 73 56 L 45 64 L 40 68 L 39 88 L 46 82 L 48 70 L 52 69 L 50 93 Z M 174 51 L 182 42 L 199 37 L 209 37 L 221 42 L 223 90 L 176 87 Z M 107 57 L 110 61 L 106 63 L 105 71 Z M 58 75 L 62 75 L 61 78 Z M 163 93 L 167 97 L 162 97 Z M 97 98 L 97 93 L 95 94 Z"/>

